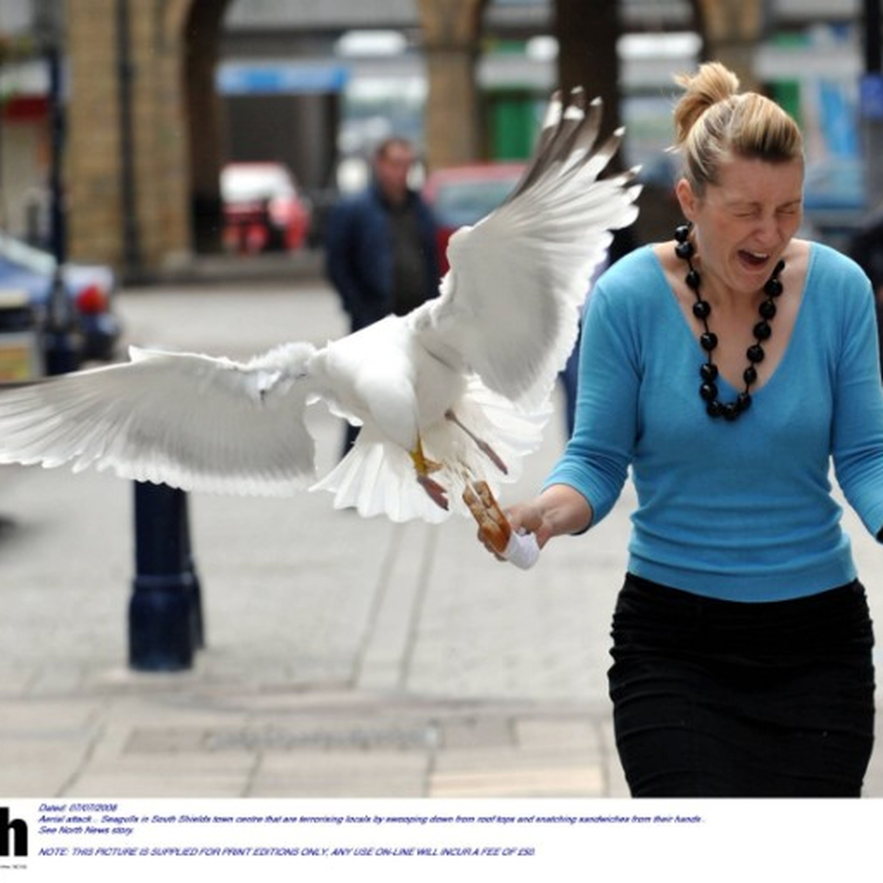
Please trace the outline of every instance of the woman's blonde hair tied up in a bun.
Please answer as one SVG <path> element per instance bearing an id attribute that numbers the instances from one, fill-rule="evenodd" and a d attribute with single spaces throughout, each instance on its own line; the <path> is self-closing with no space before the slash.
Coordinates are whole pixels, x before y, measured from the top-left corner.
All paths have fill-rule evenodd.
<path id="1" fill-rule="evenodd" d="M 681 74 L 675 105 L 675 150 L 683 177 L 701 195 L 718 182 L 721 163 L 736 157 L 766 162 L 802 158 L 804 139 L 792 117 L 764 95 L 739 92 L 739 79 L 720 62 Z"/>

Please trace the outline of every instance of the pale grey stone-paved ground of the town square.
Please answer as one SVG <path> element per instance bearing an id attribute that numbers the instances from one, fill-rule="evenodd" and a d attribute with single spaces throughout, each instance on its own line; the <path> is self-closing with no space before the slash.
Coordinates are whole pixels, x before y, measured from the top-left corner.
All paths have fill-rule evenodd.
<path id="1" fill-rule="evenodd" d="M 309 275 L 202 275 L 119 306 L 132 342 L 234 357 L 343 333 Z M 322 471 L 343 430 L 313 411 Z M 555 415 L 504 502 L 562 444 Z M 630 489 L 526 572 L 465 520 L 361 519 L 327 494 L 188 502 L 205 646 L 191 668 L 136 671 L 131 485 L 0 467 L 0 796 L 628 796 L 606 669 Z M 879 551 L 855 539 L 883 610 Z M 866 793 L 883 796 L 883 759 Z"/>

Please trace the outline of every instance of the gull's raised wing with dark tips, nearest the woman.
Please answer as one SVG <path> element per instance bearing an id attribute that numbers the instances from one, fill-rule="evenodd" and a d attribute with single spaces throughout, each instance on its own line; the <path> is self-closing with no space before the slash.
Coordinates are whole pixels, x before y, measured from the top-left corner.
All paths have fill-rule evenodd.
<path id="1" fill-rule="evenodd" d="M 525 174 L 500 208 L 449 241 L 442 297 L 415 311 L 426 348 L 533 409 L 577 338 L 579 309 L 611 230 L 632 223 L 634 171 L 599 179 L 622 130 L 595 147 L 600 100 L 555 94 Z"/>

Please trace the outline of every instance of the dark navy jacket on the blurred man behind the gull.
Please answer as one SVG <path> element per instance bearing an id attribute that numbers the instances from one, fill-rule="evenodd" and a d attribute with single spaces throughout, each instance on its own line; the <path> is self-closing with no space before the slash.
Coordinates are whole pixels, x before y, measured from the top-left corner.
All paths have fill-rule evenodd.
<path id="1" fill-rule="evenodd" d="M 425 258 L 425 295 L 438 293 L 439 260 L 432 211 L 416 192 L 408 196 Z M 343 300 L 352 329 L 364 328 L 394 308 L 393 245 L 389 208 L 377 185 L 341 200 L 328 217 L 325 242 L 328 279 Z"/>

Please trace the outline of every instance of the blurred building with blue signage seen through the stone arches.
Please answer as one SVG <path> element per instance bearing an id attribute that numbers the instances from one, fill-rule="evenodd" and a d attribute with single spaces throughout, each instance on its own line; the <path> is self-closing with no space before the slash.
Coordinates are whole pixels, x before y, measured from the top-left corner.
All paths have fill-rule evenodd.
<path id="1" fill-rule="evenodd" d="M 235 0 L 224 23 L 218 90 L 230 157 L 283 158 L 317 200 L 322 192 L 361 185 L 366 157 L 381 137 L 404 133 L 422 146 L 426 132 L 416 4 L 360 5 L 361 18 L 350 6 L 323 11 Z M 751 44 L 752 71 L 804 127 L 810 214 L 823 234 L 836 237 L 867 197 L 858 96 L 863 3 L 770 0 L 763 9 L 766 36 Z M 625 160 L 658 185 L 674 172 L 665 151 L 672 73 L 691 69 L 703 51 L 693 14 L 688 0 L 620 3 Z M 489 4 L 476 65 L 480 158 L 529 154 L 555 87 L 553 15 L 551 0 Z"/>

